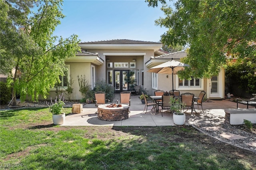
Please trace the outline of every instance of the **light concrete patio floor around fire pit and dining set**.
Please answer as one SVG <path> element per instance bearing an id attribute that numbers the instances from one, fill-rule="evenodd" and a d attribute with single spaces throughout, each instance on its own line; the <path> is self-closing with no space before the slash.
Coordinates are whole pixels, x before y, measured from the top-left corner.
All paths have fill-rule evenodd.
<path id="1" fill-rule="evenodd" d="M 119 98 L 119 94 L 115 94 L 113 101 Z M 238 108 L 246 109 L 246 105 L 238 104 Z M 249 108 L 254 108 L 249 106 Z M 61 126 L 175 126 L 172 113 L 163 110 L 162 114 L 156 114 L 152 107 L 148 107 L 147 113 L 144 110 L 144 104 L 141 103 L 137 96 L 131 96 L 131 106 L 129 118 L 123 121 L 101 121 L 95 112 L 97 108 L 94 104 L 86 104 L 83 106 L 82 113 L 70 113 L 66 116 L 65 123 Z M 186 113 L 185 125 L 203 125 L 212 124 L 219 125 L 224 123 L 224 109 L 236 109 L 236 103 L 228 100 L 210 100 L 203 103 L 204 113 L 202 109 L 197 108 L 197 113 L 191 115 L 191 110 Z M 161 108 L 160 108 L 161 110 Z"/>

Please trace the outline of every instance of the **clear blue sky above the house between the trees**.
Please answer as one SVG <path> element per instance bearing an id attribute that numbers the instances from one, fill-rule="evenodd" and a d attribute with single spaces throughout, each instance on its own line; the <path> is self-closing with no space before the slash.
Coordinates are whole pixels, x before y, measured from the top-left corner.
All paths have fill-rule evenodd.
<path id="1" fill-rule="evenodd" d="M 148 7 L 144 0 L 64 0 L 66 16 L 54 35 L 78 35 L 81 42 L 129 39 L 159 42 L 166 28 L 154 21 L 164 17 L 160 6 Z"/>

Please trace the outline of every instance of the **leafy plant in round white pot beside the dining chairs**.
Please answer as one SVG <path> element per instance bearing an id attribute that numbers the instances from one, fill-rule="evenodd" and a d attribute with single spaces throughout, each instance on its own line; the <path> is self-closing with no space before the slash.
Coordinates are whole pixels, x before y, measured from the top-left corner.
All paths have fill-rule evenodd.
<path id="1" fill-rule="evenodd" d="M 180 99 L 170 99 L 170 110 L 173 111 L 173 121 L 176 125 L 184 125 L 186 121 L 186 115 L 182 112 L 184 103 Z"/>

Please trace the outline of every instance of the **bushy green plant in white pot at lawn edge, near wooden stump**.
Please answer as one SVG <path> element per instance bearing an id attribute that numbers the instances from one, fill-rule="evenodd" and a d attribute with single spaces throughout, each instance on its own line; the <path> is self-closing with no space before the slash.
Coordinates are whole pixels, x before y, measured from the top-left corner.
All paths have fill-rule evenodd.
<path id="1" fill-rule="evenodd" d="M 52 102 L 52 98 L 51 103 L 46 102 L 46 104 L 49 106 L 50 113 L 52 113 L 52 121 L 54 125 L 62 125 L 65 121 L 65 113 L 62 113 L 62 109 L 65 103 L 64 98 L 63 101 L 61 99 L 62 96 L 59 98 L 59 100 L 57 100 L 56 97 L 54 102 Z"/>

